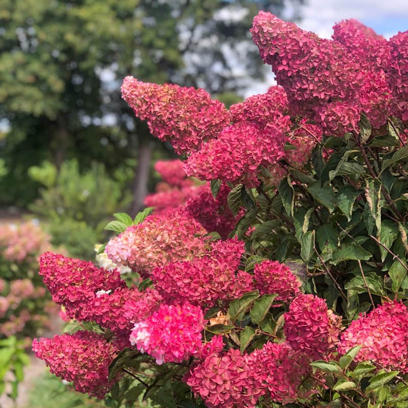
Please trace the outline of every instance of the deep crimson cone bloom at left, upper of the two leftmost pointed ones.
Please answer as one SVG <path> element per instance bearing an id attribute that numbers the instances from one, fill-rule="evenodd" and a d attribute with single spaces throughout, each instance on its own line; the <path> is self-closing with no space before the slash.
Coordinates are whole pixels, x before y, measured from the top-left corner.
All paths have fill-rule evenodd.
<path id="1" fill-rule="evenodd" d="M 43 276 L 53 300 L 64 305 L 69 317 L 86 309 L 96 292 L 114 291 L 126 286 L 116 269 L 97 268 L 91 262 L 53 252 L 45 252 L 40 257 L 39 274 Z"/>

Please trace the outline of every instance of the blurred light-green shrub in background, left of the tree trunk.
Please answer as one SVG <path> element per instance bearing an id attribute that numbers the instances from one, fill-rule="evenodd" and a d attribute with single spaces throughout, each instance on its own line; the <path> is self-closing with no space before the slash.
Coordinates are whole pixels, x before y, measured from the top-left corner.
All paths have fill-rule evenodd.
<path id="1" fill-rule="evenodd" d="M 48 222 L 53 244 L 64 245 L 74 257 L 92 258 L 94 243 L 104 238 L 111 214 L 131 200 L 122 193 L 129 174 L 118 169 L 112 178 L 101 163 L 81 172 L 72 159 L 57 172 L 54 164 L 43 162 L 30 167 L 29 175 L 43 186 L 30 210 Z"/>

